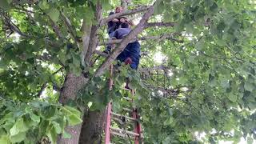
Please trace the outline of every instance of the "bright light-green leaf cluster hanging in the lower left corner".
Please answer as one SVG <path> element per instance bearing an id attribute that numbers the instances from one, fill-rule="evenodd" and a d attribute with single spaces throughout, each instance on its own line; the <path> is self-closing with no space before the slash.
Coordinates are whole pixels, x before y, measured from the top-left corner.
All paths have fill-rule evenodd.
<path id="1" fill-rule="evenodd" d="M 31 101 L 15 102 L 0 98 L 0 142 L 36 143 L 48 136 L 55 143 L 58 134 L 65 134 L 67 125 L 80 123 L 81 113 L 70 106 Z"/>

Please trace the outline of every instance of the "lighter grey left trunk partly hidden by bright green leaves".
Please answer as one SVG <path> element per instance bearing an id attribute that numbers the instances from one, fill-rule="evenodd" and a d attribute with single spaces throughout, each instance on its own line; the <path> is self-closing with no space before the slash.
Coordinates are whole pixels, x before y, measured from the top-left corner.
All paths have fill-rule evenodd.
<path id="1" fill-rule="evenodd" d="M 74 99 L 78 90 L 80 90 L 87 81 L 88 79 L 83 76 L 76 77 L 74 74 L 67 74 L 59 102 L 65 104 L 69 99 Z M 71 138 L 62 138 L 62 136 L 60 136 L 58 138 L 58 144 L 78 144 L 81 128 L 82 124 L 67 126 L 65 130 L 67 133 L 71 134 Z"/>

